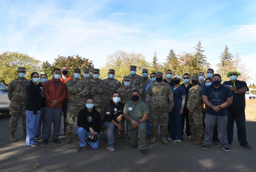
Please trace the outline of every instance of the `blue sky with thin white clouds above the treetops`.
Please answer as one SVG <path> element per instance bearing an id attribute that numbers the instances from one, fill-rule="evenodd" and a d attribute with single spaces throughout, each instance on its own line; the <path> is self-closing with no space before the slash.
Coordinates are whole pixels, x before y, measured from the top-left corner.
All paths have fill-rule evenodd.
<path id="1" fill-rule="evenodd" d="M 0 46 L 41 61 L 79 54 L 104 65 L 116 50 L 159 62 L 200 40 L 213 69 L 223 46 L 256 64 L 256 1 L 1 1 Z M 254 69 L 252 73 L 256 73 Z M 256 78 L 254 79 L 256 80 Z"/>

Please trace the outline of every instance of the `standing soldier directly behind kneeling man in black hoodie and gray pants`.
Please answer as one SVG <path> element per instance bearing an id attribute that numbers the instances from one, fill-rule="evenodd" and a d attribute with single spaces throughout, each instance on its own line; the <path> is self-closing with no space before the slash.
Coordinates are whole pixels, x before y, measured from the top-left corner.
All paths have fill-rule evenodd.
<path id="1" fill-rule="evenodd" d="M 118 88 L 122 87 L 121 82 L 114 78 L 115 76 L 114 69 L 109 69 L 108 75 L 109 77 L 103 80 L 103 82 L 108 87 L 108 91 L 103 94 L 103 98 L 102 98 L 103 109 L 105 109 L 106 105 L 109 104 L 109 101 L 111 100 L 111 97 L 112 97 L 112 93 L 116 91 Z"/>

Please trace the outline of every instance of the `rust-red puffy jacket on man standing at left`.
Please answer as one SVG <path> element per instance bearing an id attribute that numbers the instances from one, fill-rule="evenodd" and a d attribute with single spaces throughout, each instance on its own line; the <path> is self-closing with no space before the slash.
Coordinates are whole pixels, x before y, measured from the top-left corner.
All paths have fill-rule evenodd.
<path id="1" fill-rule="evenodd" d="M 54 78 L 45 82 L 43 92 L 44 92 L 46 107 L 51 107 L 52 105 L 51 102 L 53 100 L 57 100 L 59 103 L 53 108 L 61 108 L 63 101 L 67 97 L 66 84 L 59 80 L 56 87 Z"/>

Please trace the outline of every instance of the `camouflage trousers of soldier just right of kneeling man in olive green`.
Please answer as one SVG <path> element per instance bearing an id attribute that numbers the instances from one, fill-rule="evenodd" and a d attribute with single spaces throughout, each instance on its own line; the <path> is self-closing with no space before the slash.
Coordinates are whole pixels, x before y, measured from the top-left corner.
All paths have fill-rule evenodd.
<path id="1" fill-rule="evenodd" d="M 167 125 L 169 122 L 168 108 L 151 108 L 150 123 L 152 136 L 158 136 L 159 121 L 161 126 L 161 136 L 167 137 Z"/>

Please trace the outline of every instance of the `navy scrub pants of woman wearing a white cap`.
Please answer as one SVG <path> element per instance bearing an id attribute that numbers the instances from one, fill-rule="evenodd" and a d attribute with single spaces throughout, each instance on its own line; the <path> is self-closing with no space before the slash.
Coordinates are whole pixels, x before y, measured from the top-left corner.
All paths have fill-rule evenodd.
<path id="1" fill-rule="evenodd" d="M 182 136 L 182 115 L 179 114 L 180 108 L 173 108 L 169 113 L 170 138 L 173 140 L 183 141 Z"/>

